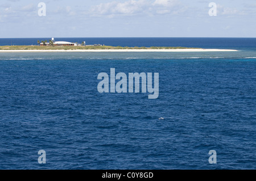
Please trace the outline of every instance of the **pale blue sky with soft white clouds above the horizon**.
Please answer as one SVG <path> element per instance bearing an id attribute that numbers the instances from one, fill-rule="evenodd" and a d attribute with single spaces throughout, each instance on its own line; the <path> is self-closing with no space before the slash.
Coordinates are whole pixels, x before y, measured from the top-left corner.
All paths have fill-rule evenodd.
<path id="1" fill-rule="evenodd" d="M 210 2 L 217 16 L 209 16 Z M 1 0 L 0 26 L 1 38 L 256 37 L 256 1 Z"/>

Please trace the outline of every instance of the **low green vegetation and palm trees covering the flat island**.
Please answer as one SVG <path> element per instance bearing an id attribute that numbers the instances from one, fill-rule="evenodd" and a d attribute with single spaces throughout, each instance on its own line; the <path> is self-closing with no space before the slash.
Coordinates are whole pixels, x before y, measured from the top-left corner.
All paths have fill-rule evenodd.
<path id="1" fill-rule="evenodd" d="M 46 44 L 47 41 L 42 41 Z M 38 46 L 38 45 L 12 45 L 12 46 L 0 46 L 0 50 L 86 50 L 86 49 L 197 49 L 187 47 L 113 47 L 113 46 L 54 46 L 53 43 L 49 42 L 51 46 Z M 38 41 L 40 44 L 40 41 Z"/>

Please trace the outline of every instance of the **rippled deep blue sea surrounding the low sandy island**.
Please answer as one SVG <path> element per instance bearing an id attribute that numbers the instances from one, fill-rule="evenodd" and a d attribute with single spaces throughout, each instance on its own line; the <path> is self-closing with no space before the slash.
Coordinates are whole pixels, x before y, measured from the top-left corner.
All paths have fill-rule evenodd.
<path id="1" fill-rule="evenodd" d="M 256 169 L 256 39 L 56 40 L 240 51 L 0 53 L 0 169 Z M 159 73 L 158 99 L 98 92 L 110 68 Z"/>

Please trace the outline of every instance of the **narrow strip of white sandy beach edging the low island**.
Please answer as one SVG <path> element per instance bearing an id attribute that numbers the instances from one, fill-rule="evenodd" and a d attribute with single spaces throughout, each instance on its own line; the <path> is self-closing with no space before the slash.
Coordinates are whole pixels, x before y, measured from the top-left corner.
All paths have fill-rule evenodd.
<path id="1" fill-rule="evenodd" d="M 76 50 L 0 50 L 1 52 L 237 52 L 233 49 L 76 49 Z"/>

